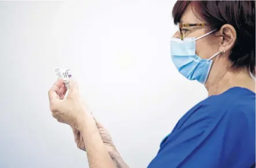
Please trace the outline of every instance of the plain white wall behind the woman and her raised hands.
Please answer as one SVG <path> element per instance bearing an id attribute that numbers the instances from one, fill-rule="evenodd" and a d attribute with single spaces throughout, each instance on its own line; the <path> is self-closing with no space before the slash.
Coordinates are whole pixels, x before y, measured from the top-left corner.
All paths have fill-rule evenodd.
<path id="1" fill-rule="evenodd" d="M 146 167 L 203 85 L 175 69 L 175 1 L 0 2 L 0 167 L 88 167 L 71 128 L 52 118 L 54 68 L 71 68 L 130 167 Z"/>

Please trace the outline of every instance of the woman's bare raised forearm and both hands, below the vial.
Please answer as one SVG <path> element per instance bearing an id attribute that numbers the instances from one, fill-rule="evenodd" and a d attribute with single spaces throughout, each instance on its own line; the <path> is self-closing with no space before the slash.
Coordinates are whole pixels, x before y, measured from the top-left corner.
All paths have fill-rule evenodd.
<path id="1" fill-rule="evenodd" d="M 95 122 L 82 100 L 77 83 L 69 83 L 69 94 L 59 79 L 48 91 L 52 116 L 61 123 L 69 124 L 74 131 L 78 147 L 87 150 L 89 167 L 128 167 L 116 152 L 110 134 Z"/>

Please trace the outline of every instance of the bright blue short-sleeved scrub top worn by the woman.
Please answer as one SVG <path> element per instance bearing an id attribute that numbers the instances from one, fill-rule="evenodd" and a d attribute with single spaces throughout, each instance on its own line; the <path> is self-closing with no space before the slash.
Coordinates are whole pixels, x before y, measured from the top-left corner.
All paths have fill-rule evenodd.
<path id="1" fill-rule="evenodd" d="M 255 163 L 255 93 L 232 87 L 189 110 L 148 168 L 244 168 Z"/>

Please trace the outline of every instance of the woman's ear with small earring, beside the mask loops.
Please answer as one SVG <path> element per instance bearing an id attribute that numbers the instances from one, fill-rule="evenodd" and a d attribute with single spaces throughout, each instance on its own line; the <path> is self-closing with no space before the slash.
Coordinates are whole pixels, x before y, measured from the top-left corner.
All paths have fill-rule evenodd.
<path id="1" fill-rule="evenodd" d="M 218 34 L 221 36 L 220 51 L 225 49 L 226 52 L 230 52 L 236 41 L 236 30 L 234 26 L 225 24 L 221 26 Z"/>

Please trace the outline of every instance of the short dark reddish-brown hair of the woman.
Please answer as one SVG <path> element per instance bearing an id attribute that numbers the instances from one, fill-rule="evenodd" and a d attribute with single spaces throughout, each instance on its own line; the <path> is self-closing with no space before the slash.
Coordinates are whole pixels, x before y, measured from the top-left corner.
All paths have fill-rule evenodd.
<path id="1" fill-rule="evenodd" d="M 237 39 L 229 55 L 232 67 L 250 67 L 255 74 L 255 1 L 177 1 L 172 10 L 174 24 L 180 22 L 189 4 L 211 29 L 234 26 Z"/>

